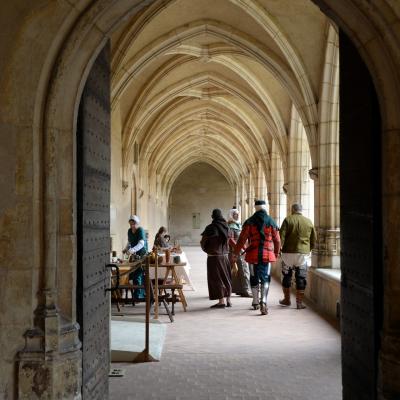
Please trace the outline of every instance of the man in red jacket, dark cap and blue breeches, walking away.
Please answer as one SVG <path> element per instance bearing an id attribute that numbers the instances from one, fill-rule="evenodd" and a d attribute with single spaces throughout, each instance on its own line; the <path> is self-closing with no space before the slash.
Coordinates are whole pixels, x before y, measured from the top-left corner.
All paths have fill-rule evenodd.
<path id="1" fill-rule="evenodd" d="M 268 314 L 267 296 L 271 282 L 271 262 L 276 261 L 280 251 L 279 229 L 276 222 L 267 214 L 264 200 L 256 200 L 256 212 L 245 221 L 234 253 L 248 243 L 245 260 L 250 265 L 250 285 L 253 294 L 253 308 L 260 309 L 262 315 Z"/>

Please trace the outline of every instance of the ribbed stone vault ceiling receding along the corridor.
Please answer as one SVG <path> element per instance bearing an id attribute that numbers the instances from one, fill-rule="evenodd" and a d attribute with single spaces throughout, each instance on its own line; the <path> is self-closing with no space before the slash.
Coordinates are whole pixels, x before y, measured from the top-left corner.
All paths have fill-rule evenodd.
<path id="1" fill-rule="evenodd" d="M 124 167 L 137 143 L 165 194 L 195 162 L 232 186 L 258 160 L 268 177 L 273 142 L 286 165 L 292 105 L 312 149 L 328 24 L 309 0 L 160 1 L 127 21 L 112 38 Z"/>

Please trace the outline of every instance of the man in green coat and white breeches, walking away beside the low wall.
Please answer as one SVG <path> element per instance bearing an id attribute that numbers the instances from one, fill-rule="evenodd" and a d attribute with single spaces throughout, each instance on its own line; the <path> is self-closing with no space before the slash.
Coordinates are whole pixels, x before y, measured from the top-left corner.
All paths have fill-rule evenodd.
<path id="1" fill-rule="evenodd" d="M 292 205 L 292 214 L 284 219 L 280 229 L 282 258 L 282 306 L 290 306 L 290 286 L 294 271 L 296 280 L 296 308 L 305 308 L 304 291 L 307 286 L 307 269 L 310 253 L 315 247 L 316 233 L 310 219 L 302 215 L 303 206 Z"/>

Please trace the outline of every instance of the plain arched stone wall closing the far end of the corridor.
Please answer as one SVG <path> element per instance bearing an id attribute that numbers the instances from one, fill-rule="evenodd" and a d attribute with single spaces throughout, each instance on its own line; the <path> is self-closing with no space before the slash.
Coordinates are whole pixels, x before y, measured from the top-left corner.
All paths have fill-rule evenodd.
<path id="1" fill-rule="evenodd" d="M 169 201 L 171 240 L 198 245 L 200 234 L 211 222 L 212 209 L 221 208 L 226 217 L 234 198 L 228 181 L 214 167 L 205 163 L 191 165 L 172 187 Z M 199 228 L 193 228 L 193 213 L 200 213 Z"/>

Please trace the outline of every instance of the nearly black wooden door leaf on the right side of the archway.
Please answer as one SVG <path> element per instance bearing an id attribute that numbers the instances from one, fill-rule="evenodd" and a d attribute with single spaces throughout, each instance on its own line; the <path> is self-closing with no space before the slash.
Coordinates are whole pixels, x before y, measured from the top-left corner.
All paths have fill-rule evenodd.
<path id="1" fill-rule="evenodd" d="M 340 32 L 343 399 L 376 399 L 383 309 L 381 119 L 366 65 Z"/>

